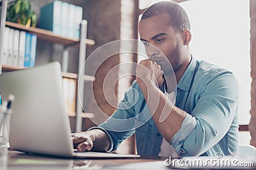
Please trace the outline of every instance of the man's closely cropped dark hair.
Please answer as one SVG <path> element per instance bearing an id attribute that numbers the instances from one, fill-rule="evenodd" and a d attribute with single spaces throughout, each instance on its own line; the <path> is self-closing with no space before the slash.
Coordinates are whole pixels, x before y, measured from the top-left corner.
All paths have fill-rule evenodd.
<path id="1" fill-rule="evenodd" d="M 168 13 L 170 16 L 170 26 L 174 27 L 176 31 L 190 30 L 190 22 L 186 11 L 179 4 L 172 1 L 162 1 L 152 4 L 143 13 L 141 20 Z"/>

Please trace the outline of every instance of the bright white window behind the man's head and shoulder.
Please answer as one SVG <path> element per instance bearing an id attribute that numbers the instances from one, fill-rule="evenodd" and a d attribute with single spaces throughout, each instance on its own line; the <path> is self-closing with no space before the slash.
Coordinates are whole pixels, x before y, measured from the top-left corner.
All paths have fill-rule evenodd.
<path id="1" fill-rule="evenodd" d="M 225 67 L 236 75 L 240 87 L 239 124 L 249 124 L 249 1 L 191 0 L 180 4 L 191 21 L 191 53 L 196 59 Z M 250 133 L 240 132 L 240 143 L 249 144 Z"/>

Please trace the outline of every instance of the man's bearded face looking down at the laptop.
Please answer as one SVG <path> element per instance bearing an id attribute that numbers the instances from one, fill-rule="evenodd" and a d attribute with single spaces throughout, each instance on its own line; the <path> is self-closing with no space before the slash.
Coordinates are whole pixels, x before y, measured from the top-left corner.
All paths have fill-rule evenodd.
<path id="1" fill-rule="evenodd" d="M 170 74 L 170 64 L 176 71 L 184 60 L 182 32 L 175 32 L 175 29 L 170 26 L 169 20 L 169 15 L 162 13 L 140 20 L 139 24 L 140 38 L 145 45 L 148 58 L 161 66 L 166 75 Z"/>

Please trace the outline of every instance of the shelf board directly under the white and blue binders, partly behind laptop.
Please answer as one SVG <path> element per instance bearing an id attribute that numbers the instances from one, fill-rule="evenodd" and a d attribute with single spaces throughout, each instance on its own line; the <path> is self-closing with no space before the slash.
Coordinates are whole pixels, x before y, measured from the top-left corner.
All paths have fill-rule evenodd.
<path id="1" fill-rule="evenodd" d="M 28 69 L 29 67 L 13 67 L 13 66 L 2 66 L 3 71 L 15 71 L 15 70 L 20 70 L 20 69 Z M 78 78 L 78 75 L 76 73 L 61 73 L 63 78 L 72 78 L 76 79 Z M 84 81 L 94 81 L 95 77 L 94 76 L 89 76 L 89 75 L 84 75 Z"/>

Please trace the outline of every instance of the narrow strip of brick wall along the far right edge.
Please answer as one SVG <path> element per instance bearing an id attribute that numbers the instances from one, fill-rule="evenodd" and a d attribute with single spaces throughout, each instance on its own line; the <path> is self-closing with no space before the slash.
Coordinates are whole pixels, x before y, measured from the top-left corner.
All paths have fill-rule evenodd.
<path id="1" fill-rule="evenodd" d="M 251 76 L 252 76 L 252 109 L 250 110 L 251 120 L 249 131 L 252 136 L 250 144 L 256 146 L 256 1 L 250 0 L 251 18 Z"/>

